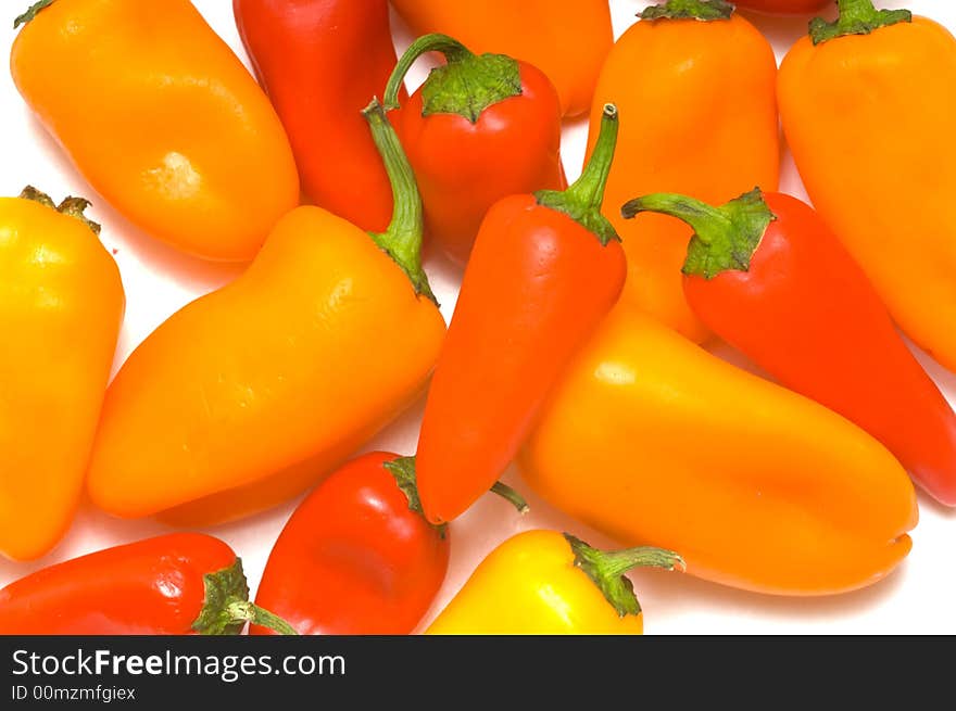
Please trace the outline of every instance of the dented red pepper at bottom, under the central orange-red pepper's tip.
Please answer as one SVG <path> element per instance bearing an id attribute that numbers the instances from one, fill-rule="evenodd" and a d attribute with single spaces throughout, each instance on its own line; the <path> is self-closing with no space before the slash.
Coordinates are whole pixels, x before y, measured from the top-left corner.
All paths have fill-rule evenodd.
<path id="1" fill-rule="evenodd" d="M 527 510 L 507 486 L 492 491 Z M 415 459 L 373 452 L 329 475 L 295 509 L 255 601 L 301 634 L 411 634 L 444 581 L 450 546 L 448 528 L 422 516 Z"/>

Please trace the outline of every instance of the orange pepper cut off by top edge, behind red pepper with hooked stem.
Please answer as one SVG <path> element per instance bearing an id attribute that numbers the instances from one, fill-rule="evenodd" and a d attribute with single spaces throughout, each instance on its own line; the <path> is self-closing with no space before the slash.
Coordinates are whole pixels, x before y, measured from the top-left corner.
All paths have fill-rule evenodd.
<path id="1" fill-rule="evenodd" d="M 451 35 L 473 51 L 496 52 L 540 68 L 562 113 L 588 111 L 601 62 L 614 42 L 606 0 L 392 0 L 416 35 Z"/>

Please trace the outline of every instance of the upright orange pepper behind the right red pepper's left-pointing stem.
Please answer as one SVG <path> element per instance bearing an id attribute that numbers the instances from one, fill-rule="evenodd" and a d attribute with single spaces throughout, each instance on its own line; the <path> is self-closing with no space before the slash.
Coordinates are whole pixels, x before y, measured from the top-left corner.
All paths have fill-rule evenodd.
<path id="1" fill-rule="evenodd" d="M 776 189 L 777 60 L 764 36 L 718 0 L 670 0 L 641 17 L 615 43 L 595 90 L 626 116 L 605 200 L 628 261 L 621 299 L 703 341 L 707 329 L 680 279 L 690 230 L 663 215 L 628 221 L 618 207 L 651 192 L 719 203 L 755 185 Z M 595 104 L 590 150 L 601 111 Z"/>

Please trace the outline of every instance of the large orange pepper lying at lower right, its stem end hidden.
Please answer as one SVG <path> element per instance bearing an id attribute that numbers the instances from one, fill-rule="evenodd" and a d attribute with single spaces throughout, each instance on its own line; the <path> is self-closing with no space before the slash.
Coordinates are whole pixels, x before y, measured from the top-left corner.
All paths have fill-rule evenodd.
<path id="1" fill-rule="evenodd" d="M 550 504 L 687 571 L 779 595 L 869 585 L 909 553 L 906 471 L 839 415 L 619 305 L 519 458 Z"/>

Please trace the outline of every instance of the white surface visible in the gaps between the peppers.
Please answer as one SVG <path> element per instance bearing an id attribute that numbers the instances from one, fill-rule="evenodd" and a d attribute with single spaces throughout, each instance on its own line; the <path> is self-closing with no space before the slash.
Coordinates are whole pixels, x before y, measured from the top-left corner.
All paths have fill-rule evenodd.
<path id="1" fill-rule="evenodd" d="M 7 55 L 15 35 L 10 29 L 12 23 L 9 21 L 16 14 L 14 11 L 21 10 L 21 4 L 26 7 L 29 2 L 18 0 L 4 3 L 5 12 L 0 17 L 0 53 L 3 55 Z M 232 22 L 232 3 L 226 0 L 196 0 L 194 4 L 248 64 Z M 649 3 L 612 0 L 611 4 L 615 30 L 619 35 L 633 22 L 634 14 Z M 956 29 L 956 3 L 944 0 L 895 0 L 884 1 L 881 5 L 908 7 L 918 14 L 933 17 Z M 787 48 L 804 34 L 807 21 L 806 17 L 783 18 L 756 14 L 749 14 L 749 17 L 770 38 L 778 56 L 782 56 Z M 400 51 L 408 41 L 398 23 L 395 40 Z M 410 77 L 412 87 L 423 76 L 424 71 L 419 67 Z M 33 118 L 8 72 L 0 73 L 0 194 L 17 194 L 24 185 L 30 183 L 58 200 L 66 194 L 89 196 L 95 202 L 90 214 L 103 225 L 104 244 L 116 250 L 115 258 L 123 274 L 128 303 L 116 367 L 173 312 L 240 272 L 240 267 L 211 266 L 185 257 L 150 239 L 112 211 L 92 193 Z M 563 155 L 571 179 L 580 173 L 586 130 L 583 122 L 569 124 L 565 130 Z M 946 137 L 942 140 L 946 140 Z M 806 198 L 789 156 L 783 165 L 781 188 Z M 456 277 L 441 264 L 429 263 L 427 267 L 448 318 L 454 307 Z M 727 350 L 718 347 L 717 351 L 726 354 Z M 944 371 L 922 354 L 919 356 L 951 402 L 956 402 L 956 376 Z M 403 454 L 414 452 L 419 417 L 420 404 L 367 448 Z M 452 524 L 451 569 L 424 624 L 451 599 L 488 551 L 519 530 L 569 530 L 594 545 L 613 546 L 613 542 L 604 536 L 566 519 L 531 496 L 527 487 L 516 481 L 513 472 L 505 477 L 505 481 L 517 483 L 528 495 L 531 512 L 519 519 L 505 503 L 496 497 L 486 497 Z M 289 503 L 253 519 L 209 531 L 227 541 L 242 557 L 253 588 L 293 506 L 294 503 Z M 645 630 L 650 634 L 956 633 L 956 606 L 953 605 L 956 599 L 956 566 L 952 562 L 953 551 L 956 550 L 956 513 L 920 494 L 920 524 L 913 535 L 913 553 L 896 573 L 873 587 L 839 597 L 773 598 L 720 587 L 687 575 L 639 572 L 633 579 L 644 608 Z M 165 531 L 168 529 L 152 521 L 118 521 L 85 506 L 67 537 L 43 560 L 28 564 L 0 560 L 0 587 L 39 567 Z"/>

